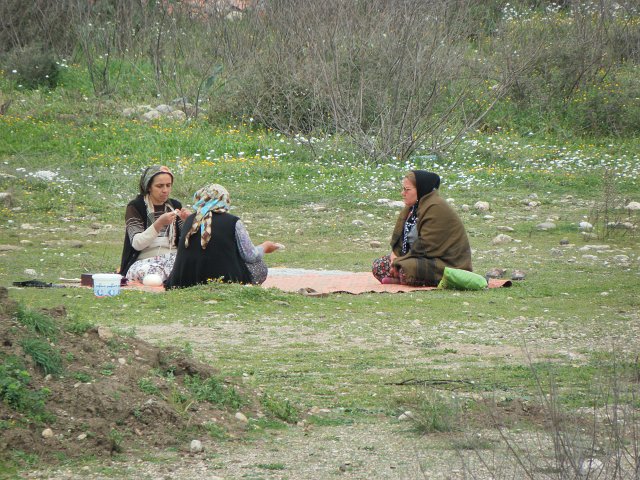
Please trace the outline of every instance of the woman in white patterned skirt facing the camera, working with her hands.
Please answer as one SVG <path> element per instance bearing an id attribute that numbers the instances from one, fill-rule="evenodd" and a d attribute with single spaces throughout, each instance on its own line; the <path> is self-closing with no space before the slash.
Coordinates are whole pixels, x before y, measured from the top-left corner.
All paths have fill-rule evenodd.
<path id="1" fill-rule="evenodd" d="M 182 222 L 191 213 L 169 198 L 173 174 L 152 165 L 140 177 L 140 193 L 127 205 L 120 275 L 142 282 L 148 274 L 166 280 L 176 258 Z"/>

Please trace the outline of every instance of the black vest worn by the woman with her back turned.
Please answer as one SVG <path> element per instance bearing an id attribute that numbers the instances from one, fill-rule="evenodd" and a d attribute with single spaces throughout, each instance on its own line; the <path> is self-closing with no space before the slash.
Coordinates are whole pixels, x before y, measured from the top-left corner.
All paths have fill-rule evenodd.
<path id="1" fill-rule="evenodd" d="M 209 280 L 251 283 L 251 273 L 236 242 L 238 217 L 230 213 L 214 213 L 211 216 L 211 239 L 204 250 L 200 245 L 199 229 L 189 237 L 189 247 L 185 247 L 185 237 L 194 218 L 195 213 L 185 220 L 176 261 L 165 287 L 190 287 Z"/>

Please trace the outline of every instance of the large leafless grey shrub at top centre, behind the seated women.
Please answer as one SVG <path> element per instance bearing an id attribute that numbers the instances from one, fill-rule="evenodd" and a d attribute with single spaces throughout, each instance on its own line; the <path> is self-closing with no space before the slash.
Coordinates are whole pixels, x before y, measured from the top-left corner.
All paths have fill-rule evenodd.
<path id="1" fill-rule="evenodd" d="M 373 158 L 445 149 L 508 82 L 468 48 L 471 3 L 270 2 L 248 22 L 257 49 L 231 53 L 234 95 L 269 127 L 344 133 Z"/>

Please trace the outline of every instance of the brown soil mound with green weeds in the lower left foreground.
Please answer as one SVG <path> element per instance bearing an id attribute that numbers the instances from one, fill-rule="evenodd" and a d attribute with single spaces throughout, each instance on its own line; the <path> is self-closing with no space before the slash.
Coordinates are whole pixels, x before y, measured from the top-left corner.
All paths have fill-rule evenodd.
<path id="1" fill-rule="evenodd" d="M 59 375 L 45 375 L 25 353 L 24 339 L 42 335 L 18 321 L 16 306 L 0 287 L 0 361 L 7 365 L 7 359 L 17 359 L 30 377 L 26 388 L 48 392 L 44 418 L 16 407 L 9 401 L 5 372 L 5 383 L 0 383 L 0 458 L 37 454 L 55 461 L 157 447 L 188 451 L 192 439 L 210 439 L 209 432 L 214 438 L 241 435 L 247 424 L 234 418 L 239 410 L 249 418 L 262 415 L 254 393 L 219 379 L 211 366 L 182 351 L 156 348 L 103 327 L 70 333 L 64 307 L 46 313 L 57 325 L 54 338 L 46 340 L 60 353 Z M 194 393 L 194 378 L 200 386 L 212 380 L 226 400 L 203 400 Z M 227 395 L 233 390 L 240 397 Z M 241 406 L 235 404 L 237 398 Z M 52 435 L 43 435 L 46 429 Z"/>

